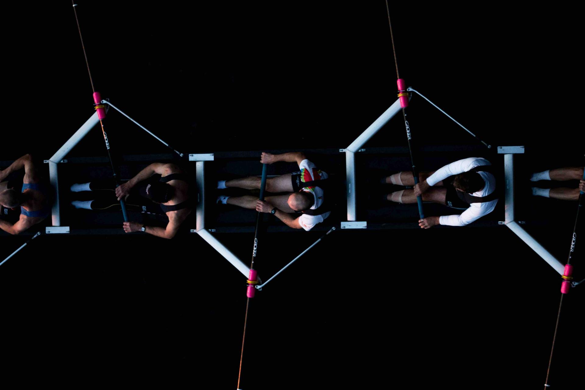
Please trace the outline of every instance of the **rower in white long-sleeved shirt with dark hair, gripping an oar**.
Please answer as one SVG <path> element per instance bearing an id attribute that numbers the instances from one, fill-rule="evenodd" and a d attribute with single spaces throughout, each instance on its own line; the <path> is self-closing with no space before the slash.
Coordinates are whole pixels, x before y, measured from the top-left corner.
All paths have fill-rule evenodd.
<path id="1" fill-rule="evenodd" d="M 434 172 L 421 172 L 419 184 L 409 172 L 398 172 L 386 178 L 386 182 L 398 185 L 414 185 L 387 195 L 388 201 L 416 203 L 417 196 L 423 201 L 441 203 L 453 208 L 466 209 L 461 215 L 432 216 L 419 220 L 424 229 L 435 225 L 464 226 L 492 212 L 498 202 L 492 165 L 484 158 L 470 157 L 445 165 Z"/>

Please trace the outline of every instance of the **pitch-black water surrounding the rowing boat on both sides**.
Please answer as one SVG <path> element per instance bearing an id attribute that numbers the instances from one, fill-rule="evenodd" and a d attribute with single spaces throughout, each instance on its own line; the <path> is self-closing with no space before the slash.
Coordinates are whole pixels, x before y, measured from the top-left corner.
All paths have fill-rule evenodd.
<path id="1" fill-rule="evenodd" d="M 80 2 L 78 15 L 96 89 L 184 153 L 302 150 L 346 147 L 395 99 L 385 5 L 363 3 Z M 572 10 L 391 6 L 408 85 L 494 147 L 526 146 L 526 171 L 583 165 Z M 10 15 L 1 160 L 49 158 L 92 113 L 73 11 Z M 409 115 L 420 145 L 474 144 L 420 98 Z M 167 152 L 119 115 L 108 126 L 115 154 Z M 405 146 L 402 126 L 365 147 Z M 101 132 L 71 156 L 104 156 Z M 527 202 L 526 229 L 565 260 L 576 203 Z M 270 234 L 261 272 L 321 234 Z M 219 239 L 250 257 L 253 234 Z M 0 257 L 25 240 L 2 236 Z M 23 357 L 183 360 L 198 384 L 236 388 L 245 280 L 198 236 L 42 236 L 0 271 L 4 336 Z M 559 287 L 504 226 L 336 232 L 253 302 L 241 387 L 542 388 Z M 581 288 L 563 303 L 556 389 L 582 379 Z"/>

